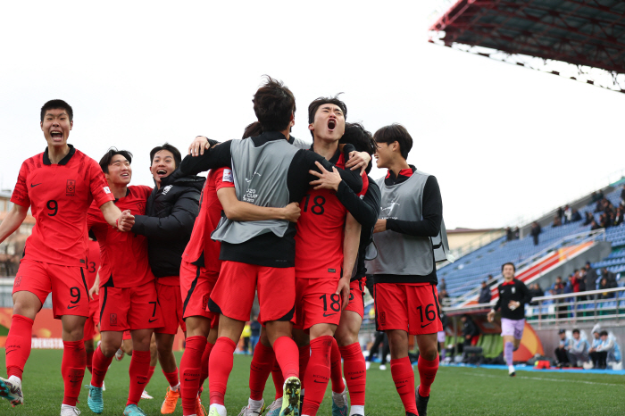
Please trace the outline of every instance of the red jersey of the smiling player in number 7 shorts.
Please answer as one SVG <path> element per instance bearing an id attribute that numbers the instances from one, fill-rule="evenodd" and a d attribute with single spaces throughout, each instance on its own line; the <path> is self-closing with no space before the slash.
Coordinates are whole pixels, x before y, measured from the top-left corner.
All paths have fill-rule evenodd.
<path id="1" fill-rule="evenodd" d="M 151 187 L 128 187 L 126 196 L 116 200 L 115 205 L 122 212 L 146 215 L 147 196 L 151 193 Z M 147 260 L 146 236 L 113 229 L 95 204 L 89 208 L 87 228 L 94 232 L 100 245 L 100 287 L 139 287 L 154 280 Z"/>

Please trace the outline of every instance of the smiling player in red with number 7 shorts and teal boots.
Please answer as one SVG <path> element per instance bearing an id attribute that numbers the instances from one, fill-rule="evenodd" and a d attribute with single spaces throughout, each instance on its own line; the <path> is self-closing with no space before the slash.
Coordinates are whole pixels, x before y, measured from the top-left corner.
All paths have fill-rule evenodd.
<path id="1" fill-rule="evenodd" d="M 111 187 L 115 204 L 133 215 L 145 215 L 151 187 L 131 186 L 132 154 L 109 149 L 100 159 L 100 167 Z M 104 410 L 102 383 L 112 358 L 121 346 L 123 333 L 130 330 L 132 357 L 129 367 L 130 386 L 124 416 L 142 416 L 137 406 L 147 382 L 150 365 L 150 339 L 154 328 L 162 326 L 154 274 L 147 258 L 147 239 L 135 233 L 118 233 L 111 229 L 95 206 L 87 215 L 87 227 L 100 244 L 100 331 L 102 342 L 96 348 L 93 375 L 87 404 L 96 413 Z"/>

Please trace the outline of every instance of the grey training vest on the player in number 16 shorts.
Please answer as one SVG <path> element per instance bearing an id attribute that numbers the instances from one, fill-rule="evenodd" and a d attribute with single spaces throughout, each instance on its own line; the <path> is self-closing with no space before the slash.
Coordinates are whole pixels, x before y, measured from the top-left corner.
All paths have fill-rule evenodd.
<path id="1" fill-rule="evenodd" d="M 428 173 L 414 171 L 412 177 L 392 186 L 384 183 L 384 177 L 378 179 L 379 219 L 422 220 L 423 188 L 428 178 Z M 427 276 L 435 269 L 435 262 L 447 260 L 449 253 L 445 221 L 441 221 L 440 232 L 434 238 L 387 230 L 373 234 L 373 242 L 378 255 L 367 262 L 367 271 L 371 274 Z"/>

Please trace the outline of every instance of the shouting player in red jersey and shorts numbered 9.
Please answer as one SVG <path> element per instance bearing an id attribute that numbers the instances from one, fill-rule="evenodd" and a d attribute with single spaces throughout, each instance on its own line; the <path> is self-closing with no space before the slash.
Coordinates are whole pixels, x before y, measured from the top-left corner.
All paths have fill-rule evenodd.
<path id="1" fill-rule="evenodd" d="M 13 284 L 12 323 L 6 338 L 8 379 L 0 378 L 0 397 L 13 406 L 23 403 L 21 376 L 29 359 L 33 322 L 52 292 L 54 318 L 63 323 L 61 414 L 74 415 L 79 414 L 76 402 L 86 366 L 87 210 L 93 201 L 108 228 L 127 231 L 132 219 L 112 204 L 111 191 L 97 163 L 68 145 L 73 127 L 71 106 L 63 100 L 48 101 L 41 107 L 40 118 L 46 150 L 21 164 L 11 197 L 12 211 L 0 224 L 2 242 L 20 227 L 29 207 L 36 220 Z"/>

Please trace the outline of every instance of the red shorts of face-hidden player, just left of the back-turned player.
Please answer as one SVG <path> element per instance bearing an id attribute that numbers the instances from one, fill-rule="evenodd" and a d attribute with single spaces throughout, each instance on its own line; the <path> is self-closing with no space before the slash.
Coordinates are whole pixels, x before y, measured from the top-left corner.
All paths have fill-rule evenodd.
<path id="1" fill-rule="evenodd" d="M 184 260 L 180 264 L 180 295 L 182 296 L 182 318 L 202 316 L 211 320 L 211 328 L 219 322 L 219 314 L 208 310 L 212 288 L 219 278 L 219 272 L 211 272 Z"/>

